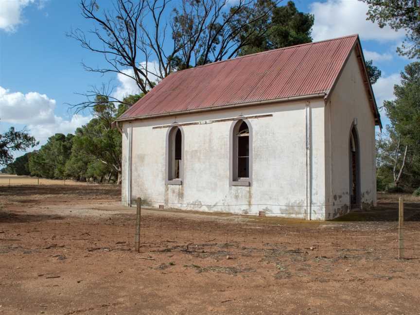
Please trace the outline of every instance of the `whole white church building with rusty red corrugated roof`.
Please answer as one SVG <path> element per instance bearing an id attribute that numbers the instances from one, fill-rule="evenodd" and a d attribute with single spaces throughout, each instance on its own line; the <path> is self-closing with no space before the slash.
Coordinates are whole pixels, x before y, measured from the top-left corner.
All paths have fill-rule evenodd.
<path id="1" fill-rule="evenodd" d="M 307 220 L 376 205 L 358 35 L 173 72 L 116 125 L 124 205 Z"/>

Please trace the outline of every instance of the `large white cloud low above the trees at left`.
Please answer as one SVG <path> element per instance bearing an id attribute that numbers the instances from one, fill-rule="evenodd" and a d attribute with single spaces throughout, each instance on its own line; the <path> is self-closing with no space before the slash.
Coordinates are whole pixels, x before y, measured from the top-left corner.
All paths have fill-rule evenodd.
<path id="1" fill-rule="evenodd" d="M 38 92 L 10 92 L 0 87 L 1 122 L 27 126 L 29 133 L 44 144 L 56 133 L 74 133 L 77 127 L 89 122 L 92 116 L 75 114 L 69 119 L 56 116 L 55 100 Z"/>

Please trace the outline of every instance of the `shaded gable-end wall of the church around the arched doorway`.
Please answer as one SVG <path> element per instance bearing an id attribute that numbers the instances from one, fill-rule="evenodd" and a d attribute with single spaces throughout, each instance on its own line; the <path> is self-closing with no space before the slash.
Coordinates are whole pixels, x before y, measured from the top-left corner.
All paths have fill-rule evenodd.
<path id="1" fill-rule="evenodd" d="M 376 205 L 375 123 L 354 51 L 330 100 L 325 110 L 326 191 L 327 204 L 331 205 L 326 219 L 350 211 L 349 137 L 354 118 L 360 141 L 362 207 Z"/>

